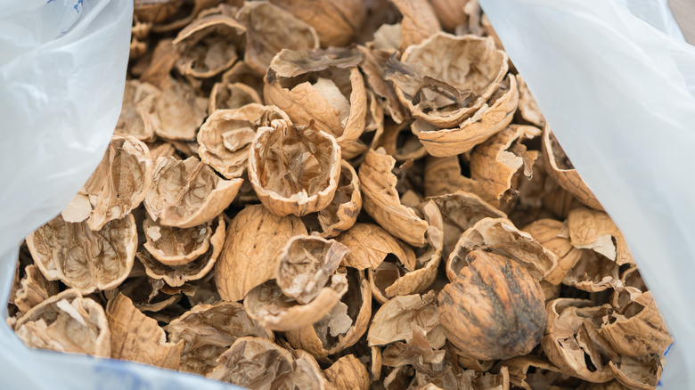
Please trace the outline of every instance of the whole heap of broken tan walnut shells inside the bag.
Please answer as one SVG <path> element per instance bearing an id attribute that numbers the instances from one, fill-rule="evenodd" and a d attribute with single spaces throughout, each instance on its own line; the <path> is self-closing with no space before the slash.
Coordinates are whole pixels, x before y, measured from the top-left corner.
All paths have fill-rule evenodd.
<path id="1" fill-rule="evenodd" d="M 29 346 L 251 389 L 648 389 L 671 344 L 475 0 L 135 0 Z"/>

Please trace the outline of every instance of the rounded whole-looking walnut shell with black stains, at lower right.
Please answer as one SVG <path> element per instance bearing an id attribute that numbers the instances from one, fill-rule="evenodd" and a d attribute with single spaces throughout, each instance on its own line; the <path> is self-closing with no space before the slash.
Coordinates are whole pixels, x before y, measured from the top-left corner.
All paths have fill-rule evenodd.
<path id="1" fill-rule="evenodd" d="M 468 266 L 439 293 L 446 338 L 482 360 L 530 353 L 543 337 L 543 289 L 526 268 L 503 256 L 473 250 Z"/>

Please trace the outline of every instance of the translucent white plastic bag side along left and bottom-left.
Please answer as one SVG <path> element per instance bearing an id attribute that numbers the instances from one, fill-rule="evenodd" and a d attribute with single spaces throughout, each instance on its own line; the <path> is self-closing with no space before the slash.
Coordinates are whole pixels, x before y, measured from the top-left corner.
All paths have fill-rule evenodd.
<path id="1" fill-rule="evenodd" d="M 133 0 L 0 0 L 0 302 L 20 241 L 58 215 L 102 159 L 119 117 L 132 15 Z M 29 349 L 2 313 L 3 390 L 238 388 Z"/>

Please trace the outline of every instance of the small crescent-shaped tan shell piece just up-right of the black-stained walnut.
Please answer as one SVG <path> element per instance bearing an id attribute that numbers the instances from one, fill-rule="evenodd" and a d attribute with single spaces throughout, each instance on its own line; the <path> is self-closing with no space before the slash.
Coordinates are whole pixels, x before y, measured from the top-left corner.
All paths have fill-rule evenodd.
<path id="1" fill-rule="evenodd" d="M 569 241 L 567 224 L 545 218 L 525 226 L 522 231 L 555 254 L 557 265 L 545 275 L 545 280 L 560 284 L 582 256 L 581 250 L 573 247 Z"/>

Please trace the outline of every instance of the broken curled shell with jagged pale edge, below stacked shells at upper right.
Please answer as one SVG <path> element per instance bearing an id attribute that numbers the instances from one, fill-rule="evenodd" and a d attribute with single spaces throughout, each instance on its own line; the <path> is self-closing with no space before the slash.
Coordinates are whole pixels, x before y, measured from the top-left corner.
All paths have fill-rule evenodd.
<path id="1" fill-rule="evenodd" d="M 478 145 L 470 155 L 470 178 L 479 182 L 494 199 L 511 199 L 516 192 L 515 175 L 531 178 L 537 150 L 523 143 L 541 134 L 534 126 L 511 125 Z"/>

